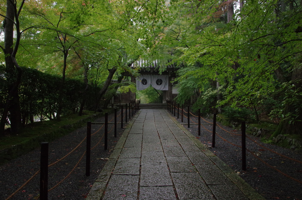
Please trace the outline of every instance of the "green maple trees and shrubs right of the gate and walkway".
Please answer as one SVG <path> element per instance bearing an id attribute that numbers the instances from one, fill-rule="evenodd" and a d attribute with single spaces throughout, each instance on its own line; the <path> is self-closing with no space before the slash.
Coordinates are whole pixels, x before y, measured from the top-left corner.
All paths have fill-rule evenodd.
<path id="1" fill-rule="evenodd" d="M 300 134 L 301 1 L 171 1 L 169 8 L 157 46 L 181 66 L 178 102 L 194 93 L 195 108 L 246 108 L 255 120 L 280 122 L 276 134 Z"/>

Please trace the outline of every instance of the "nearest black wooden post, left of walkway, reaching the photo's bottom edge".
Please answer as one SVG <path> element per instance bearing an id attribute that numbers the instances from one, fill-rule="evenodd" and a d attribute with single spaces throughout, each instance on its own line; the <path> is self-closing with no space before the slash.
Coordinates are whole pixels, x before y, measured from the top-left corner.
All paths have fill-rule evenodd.
<path id="1" fill-rule="evenodd" d="M 41 142 L 40 199 L 48 198 L 48 142 Z"/>

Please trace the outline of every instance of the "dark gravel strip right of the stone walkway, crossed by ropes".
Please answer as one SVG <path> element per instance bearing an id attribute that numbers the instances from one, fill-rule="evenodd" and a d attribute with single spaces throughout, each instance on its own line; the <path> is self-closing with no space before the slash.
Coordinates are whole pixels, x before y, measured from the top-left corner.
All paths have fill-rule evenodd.
<path id="1" fill-rule="evenodd" d="M 181 111 L 180 111 L 181 113 Z M 184 113 L 186 114 L 186 113 Z M 193 113 L 194 114 L 194 113 Z M 172 114 L 173 116 L 174 114 Z M 195 114 L 197 115 L 197 114 Z M 179 115 L 181 116 L 181 115 Z M 188 123 L 187 118 L 183 117 L 183 122 L 181 122 L 181 117 L 177 119 L 177 113 L 175 114 L 176 120 L 180 123 Z M 190 117 L 191 120 L 198 123 L 198 117 Z M 213 120 L 205 119 L 209 122 Z M 201 119 L 201 123 L 207 123 Z M 212 131 L 212 125 L 204 125 L 207 129 L 205 130 L 201 126 L 201 135 L 198 136 L 198 125 L 192 125 L 190 123 L 190 128 L 188 125 L 183 125 L 186 127 L 194 136 L 196 136 L 201 142 L 207 144 L 209 147 L 212 146 L 212 133 L 207 130 Z M 230 127 L 223 127 L 225 130 L 241 134 L 241 131 L 235 132 Z M 216 126 L 216 133 L 223 137 L 223 139 L 232 142 L 233 144 L 241 146 L 241 136 L 235 136 L 226 131 L 220 129 Z M 274 150 L 282 155 L 285 155 L 290 158 L 294 158 L 298 161 L 302 161 L 302 155 L 297 155 L 294 151 L 279 147 L 277 145 L 265 144 L 260 141 L 260 138 L 247 135 L 252 140 L 257 141 L 259 144 Z M 268 151 L 260 145 L 255 144 L 252 140 L 246 138 L 246 148 L 249 149 L 254 154 L 257 154 L 259 158 L 264 160 L 267 164 L 271 165 L 268 167 L 262 161 L 255 158 L 250 152 L 246 152 L 246 171 L 242 170 L 242 153 L 241 148 L 231 145 L 230 143 L 224 141 L 219 136 L 215 137 L 215 148 L 210 148 L 215 155 L 217 155 L 222 161 L 229 165 L 233 170 L 239 172 L 239 175 L 249 183 L 254 189 L 256 189 L 261 195 L 266 199 L 284 199 L 284 200 L 302 200 L 302 163 L 283 158 L 275 153 Z M 273 169 L 274 168 L 274 169 Z M 299 180 L 301 183 L 298 183 L 291 178 L 282 175 L 276 169 L 280 170 L 283 173 Z"/>

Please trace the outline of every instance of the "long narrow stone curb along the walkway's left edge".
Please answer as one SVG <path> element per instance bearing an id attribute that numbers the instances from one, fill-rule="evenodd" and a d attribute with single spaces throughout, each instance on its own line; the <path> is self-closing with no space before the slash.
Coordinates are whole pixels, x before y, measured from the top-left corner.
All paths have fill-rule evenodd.
<path id="1" fill-rule="evenodd" d="M 120 139 L 118 140 L 117 144 L 115 145 L 114 150 L 111 153 L 108 161 L 104 165 L 98 178 L 95 180 L 95 183 L 93 184 L 92 188 L 90 189 L 90 191 L 86 197 L 87 200 L 100 200 L 100 198 L 102 197 L 102 195 L 106 189 L 106 185 L 109 182 L 111 174 L 114 170 L 115 164 L 120 156 L 120 152 L 122 151 L 124 143 L 131 130 L 131 127 L 132 127 L 134 121 L 137 119 L 139 114 L 140 114 L 140 111 L 138 111 L 133 116 L 131 121 L 128 123 L 126 129 L 124 130 L 124 133 L 120 136 Z"/>

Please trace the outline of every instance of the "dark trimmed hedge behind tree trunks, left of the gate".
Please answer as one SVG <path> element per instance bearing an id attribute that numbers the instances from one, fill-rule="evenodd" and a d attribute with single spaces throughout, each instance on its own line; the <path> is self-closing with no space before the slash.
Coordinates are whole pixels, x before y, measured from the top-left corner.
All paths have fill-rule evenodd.
<path id="1" fill-rule="evenodd" d="M 36 120 L 54 119 L 58 110 L 59 104 L 59 85 L 57 84 L 61 76 L 51 75 L 40 72 L 36 69 L 23 69 L 22 81 L 19 86 L 20 107 L 22 122 L 34 122 Z M 0 74 L 5 75 L 5 67 L 0 66 Z M 7 84 L 2 81 L 0 87 L 1 106 L 0 111 L 3 111 L 5 104 L 5 96 Z M 81 89 L 85 88 L 85 84 L 81 80 L 67 79 L 63 87 L 63 114 L 75 113 L 78 111 L 80 102 L 82 101 Z M 79 90 L 80 89 L 80 90 Z M 92 87 L 88 89 L 87 102 L 90 98 L 95 98 L 95 92 Z"/>

